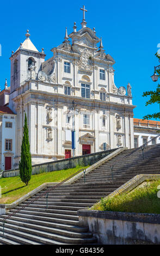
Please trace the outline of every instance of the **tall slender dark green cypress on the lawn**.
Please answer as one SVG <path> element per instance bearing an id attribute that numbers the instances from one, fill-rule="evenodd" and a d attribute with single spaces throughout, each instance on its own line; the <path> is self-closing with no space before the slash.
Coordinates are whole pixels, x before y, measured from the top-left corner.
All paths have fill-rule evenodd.
<path id="1" fill-rule="evenodd" d="M 32 164 L 31 164 L 26 113 L 25 113 L 25 119 L 24 119 L 23 139 L 22 139 L 22 145 L 21 145 L 21 161 L 20 161 L 19 167 L 20 167 L 20 178 L 27 186 L 32 175 Z"/>

